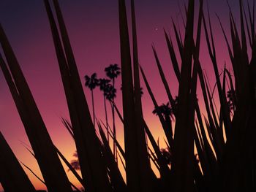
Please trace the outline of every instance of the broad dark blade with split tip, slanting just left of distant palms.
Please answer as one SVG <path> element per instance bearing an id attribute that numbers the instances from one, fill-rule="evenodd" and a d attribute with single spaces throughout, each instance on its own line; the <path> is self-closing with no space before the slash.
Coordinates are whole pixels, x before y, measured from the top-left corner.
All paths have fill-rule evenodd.
<path id="1" fill-rule="evenodd" d="M 81 172 L 86 179 L 86 189 L 88 191 L 111 191 L 105 164 L 97 164 L 97 162 L 103 161 L 100 151 L 101 147 L 94 131 L 89 107 L 83 93 L 83 87 L 80 82 L 72 47 L 69 42 L 67 28 L 64 24 L 58 1 L 53 1 L 53 4 L 59 21 L 64 50 L 61 47 L 61 40 L 50 9 L 50 4 L 48 1 L 45 1 L 53 41 L 55 42 L 56 54 L 59 60 L 62 82 L 64 83 L 64 90 L 69 106 L 69 115 L 72 121 Z"/>

